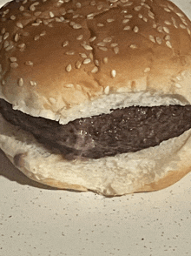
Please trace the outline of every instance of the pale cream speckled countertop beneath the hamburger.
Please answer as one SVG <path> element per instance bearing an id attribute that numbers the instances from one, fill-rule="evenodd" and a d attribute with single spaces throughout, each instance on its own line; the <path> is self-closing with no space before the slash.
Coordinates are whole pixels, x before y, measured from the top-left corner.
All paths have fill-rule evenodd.
<path id="1" fill-rule="evenodd" d="M 191 17 L 191 1 L 173 2 Z M 190 226 L 191 173 L 160 192 L 109 199 L 38 185 L 0 151 L 2 256 L 191 255 Z"/>

